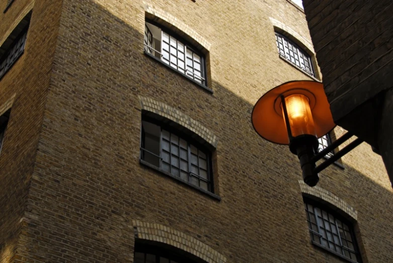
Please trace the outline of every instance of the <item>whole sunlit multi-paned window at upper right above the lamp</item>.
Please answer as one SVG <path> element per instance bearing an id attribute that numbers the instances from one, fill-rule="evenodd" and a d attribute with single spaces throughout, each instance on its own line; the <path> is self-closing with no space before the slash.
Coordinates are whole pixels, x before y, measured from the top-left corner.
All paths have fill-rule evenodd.
<path id="1" fill-rule="evenodd" d="M 307 74 L 315 76 L 311 56 L 299 46 L 290 41 L 283 35 L 275 32 L 278 53 L 290 61 L 292 64 L 301 68 Z"/>

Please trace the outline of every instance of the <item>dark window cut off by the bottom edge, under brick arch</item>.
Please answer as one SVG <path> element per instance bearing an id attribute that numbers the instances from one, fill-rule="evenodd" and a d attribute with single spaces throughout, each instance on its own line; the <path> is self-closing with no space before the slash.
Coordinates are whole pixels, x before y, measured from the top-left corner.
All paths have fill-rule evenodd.
<path id="1" fill-rule="evenodd" d="M 203 260 L 191 259 L 185 251 L 136 242 L 134 263 L 206 263 Z M 182 253 L 181 253 L 182 252 Z"/>

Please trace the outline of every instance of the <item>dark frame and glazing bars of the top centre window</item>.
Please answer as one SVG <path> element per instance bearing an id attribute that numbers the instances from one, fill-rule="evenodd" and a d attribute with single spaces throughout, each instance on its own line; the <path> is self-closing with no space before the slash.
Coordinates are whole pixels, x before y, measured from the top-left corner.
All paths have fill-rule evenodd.
<path id="1" fill-rule="evenodd" d="M 187 41 L 186 39 L 184 39 L 184 37 L 182 37 L 181 35 L 179 35 L 178 33 L 176 33 L 176 32 L 174 32 L 173 30 L 171 30 L 171 29 L 169 29 L 169 28 L 167 28 L 166 26 L 163 26 L 162 24 L 159 24 L 159 23 L 157 23 L 156 21 L 154 21 L 154 20 L 151 20 L 151 19 L 148 19 L 148 18 L 145 18 L 145 27 L 147 27 L 146 26 L 146 23 L 149 23 L 149 24 L 151 24 L 151 25 L 153 25 L 153 26 L 155 26 L 155 27 L 158 27 L 160 30 L 161 30 L 161 40 L 160 40 L 160 43 L 161 43 L 161 45 L 160 45 L 160 50 L 154 50 L 154 51 L 159 51 L 159 55 L 160 55 L 160 58 L 158 58 L 158 57 L 156 57 L 155 55 L 153 55 L 153 54 L 150 54 L 146 49 L 149 49 L 149 48 L 151 48 L 151 47 L 147 47 L 146 45 L 145 45 L 145 41 L 144 41 L 144 45 L 143 45 L 143 51 L 144 51 L 144 53 L 145 53 L 145 55 L 147 55 L 147 56 L 149 56 L 149 57 L 151 57 L 151 58 L 153 58 L 153 59 L 155 59 L 155 60 L 157 60 L 157 61 L 159 61 L 161 64 L 163 64 L 163 65 L 165 65 L 166 67 L 168 67 L 168 68 L 170 68 L 170 69 L 172 69 L 173 71 L 175 71 L 176 73 L 178 73 L 178 74 L 180 74 L 180 75 L 182 75 L 182 76 L 184 76 L 184 77 L 186 77 L 187 79 L 189 79 L 189 80 L 191 80 L 193 83 L 196 83 L 196 84 L 198 84 L 199 86 L 201 86 L 201 87 L 203 87 L 205 90 L 207 90 L 207 91 L 209 91 L 210 93 L 213 93 L 213 90 L 212 89 L 210 89 L 210 87 L 208 86 L 208 70 L 207 70 L 207 65 L 208 65 L 208 63 L 207 63 L 207 54 L 205 54 L 203 51 L 201 51 L 201 50 L 199 50 L 198 48 L 196 48 L 194 45 L 192 45 L 189 41 Z M 149 30 L 149 31 L 151 31 L 148 27 L 147 27 L 147 29 Z M 177 42 L 180 42 L 180 43 L 182 43 L 183 45 L 184 45 L 184 73 L 183 72 L 181 72 L 181 71 L 179 71 L 178 69 L 176 69 L 176 68 L 174 68 L 174 67 L 172 67 L 171 65 L 170 65 L 170 57 L 169 57 L 169 64 L 167 64 L 167 63 L 165 63 L 164 61 L 163 61 L 163 59 L 162 59 L 162 42 L 163 42 L 163 39 L 162 39 L 162 35 L 163 35 L 163 32 L 164 33 L 166 33 L 166 34 L 168 34 L 169 36 L 172 36 L 173 38 L 175 38 L 176 39 L 176 41 Z M 144 32 L 144 37 L 145 37 L 145 32 Z M 169 46 L 170 46 L 170 44 L 169 44 Z M 199 57 L 200 57 L 200 59 L 201 59 L 201 82 L 199 82 L 198 80 L 195 80 L 193 77 L 191 77 L 190 75 L 188 75 L 187 73 L 186 73 L 186 69 L 187 69 L 187 53 L 186 53 L 186 50 L 190 50 L 191 52 L 192 52 L 192 54 L 196 54 L 196 55 L 198 55 Z M 169 51 L 170 52 L 170 51 Z M 170 53 L 169 53 L 169 56 L 170 56 Z M 176 57 L 177 58 L 177 60 L 178 60 L 178 57 Z M 193 59 L 192 59 L 192 61 L 193 61 Z M 194 62 L 194 61 L 193 61 Z M 193 73 L 193 72 L 192 72 Z"/>

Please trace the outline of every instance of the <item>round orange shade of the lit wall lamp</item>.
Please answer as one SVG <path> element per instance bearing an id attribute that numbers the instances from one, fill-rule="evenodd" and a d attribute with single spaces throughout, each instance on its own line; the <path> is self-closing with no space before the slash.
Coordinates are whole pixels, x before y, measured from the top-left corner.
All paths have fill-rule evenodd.
<path id="1" fill-rule="evenodd" d="M 299 114 L 302 113 L 302 116 L 306 116 L 306 118 L 303 118 L 306 123 L 298 124 L 302 131 L 306 130 L 308 134 L 316 135 L 319 138 L 336 126 L 321 82 L 310 80 L 290 81 L 276 86 L 264 94 L 252 110 L 252 125 L 262 138 L 278 144 L 289 144 L 282 114 L 281 96 L 285 98 L 288 115 L 292 114 L 293 117 L 300 117 Z M 299 108 L 299 105 L 303 105 L 306 101 L 307 108 Z M 300 102 L 303 104 L 300 104 Z M 295 118 L 292 118 L 292 120 L 295 120 Z M 299 132 L 296 130 L 292 131 L 294 137 L 298 135 L 297 133 Z"/>

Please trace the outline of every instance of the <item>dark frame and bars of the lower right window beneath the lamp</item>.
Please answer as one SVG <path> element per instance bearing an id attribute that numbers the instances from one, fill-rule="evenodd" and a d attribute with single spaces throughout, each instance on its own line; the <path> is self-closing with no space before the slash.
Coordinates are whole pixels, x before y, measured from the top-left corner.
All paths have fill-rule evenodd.
<path id="1" fill-rule="evenodd" d="M 342 258 L 342 259 L 345 259 L 346 261 L 349 261 L 349 262 L 352 262 L 352 263 L 362 263 L 363 262 L 362 261 L 362 256 L 361 256 L 361 252 L 360 252 L 359 245 L 358 245 L 358 242 L 357 242 L 356 234 L 355 234 L 355 231 L 354 231 L 354 224 L 350 220 L 345 218 L 342 215 L 342 212 L 341 213 L 337 212 L 337 209 L 332 208 L 331 205 L 329 205 L 329 204 L 327 204 L 325 202 L 318 202 L 318 201 L 316 201 L 316 200 L 314 200 L 312 198 L 309 198 L 309 197 L 303 197 L 303 201 L 304 201 L 304 205 L 305 205 L 304 211 L 306 212 L 306 220 L 307 220 L 308 232 L 310 234 L 309 238 L 310 238 L 311 243 L 313 245 L 319 247 L 319 248 L 322 248 L 322 249 L 324 249 L 324 250 L 326 250 L 326 251 L 328 251 L 328 252 L 330 252 L 330 253 L 332 253 L 332 254 L 340 257 L 340 258 Z M 318 232 L 313 230 L 312 227 L 311 227 L 311 225 L 314 224 L 314 223 L 311 222 L 310 212 L 309 212 L 309 208 L 307 206 L 308 204 L 313 206 L 313 213 L 314 213 L 314 217 L 315 217 L 315 220 L 316 220 L 316 225 L 317 225 Z M 307 206 L 307 208 L 306 208 L 306 206 Z M 321 216 L 322 216 L 322 220 L 324 220 L 324 223 L 325 223 L 325 218 L 323 218 L 323 211 L 328 214 L 328 217 L 329 217 L 329 214 L 333 216 L 334 221 L 336 223 L 337 235 L 338 235 L 339 241 L 340 241 L 340 245 L 338 245 L 338 246 L 341 248 L 341 251 L 343 252 L 343 254 L 340 254 L 339 252 L 336 252 L 335 250 L 333 250 L 333 249 L 331 249 L 329 247 L 330 244 L 329 244 L 329 238 L 328 237 L 326 237 L 326 242 L 327 242 L 328 246 L 324 246 L 322 244 L 322 241 L 320 241 L 320 242 L 314 241 L 314 235 L 318 236 L 320 239 L 321 239 L 321 237 L 324 238 L 323 234 L 320 233 L 320 230 L 321 230 L 320 229 L 320 222 L 319 222 L 319 219 L 318 219 L 318 215 L 315 212 L 315 208 L 319 208 L 321 210 Z M 353 260 L 351 258 L 348 258 L 348 257 L 346 257 L 344 255 L 343 249 L 349 251 L 350 248 L 349 247 L 343 248 L 344 245 L 342 243 L 342 238 L 340 236 L 340 231 L 339 231 L 339 226 L 338 226 L 337 220 L 341 221 L 341 224 L 345 224 L 348 227 L 348 231 L 347 232 L 350 233 L 350 236 L 351 236 L 351 239 L 352 239 L 352 245 L 353 245 L 353 248 L 354 248 L 351 252 L 356 255 L 356 260 L 357 261 L 355 261 L 355 260 Z M 330 222 L 330 218 L 329 218 L 329 223 L 331 223 Z M 331 225 L 330 225 L 330 227 L 331 227 Z M 323 228 L 325 229 L 325 232 L 327 232 L 327 231 L 332 232 L 333 244 L 335 246 L 337 246 L 336 243 L 334 242 L 333 230 L 326 230 L 326 226 L 324 226 Z M 343 225 L 342 225 L 341 228 L 343 229 L 343 231 L 346 231 L 346 230 L 344 230 L 344 226 Z M 344 234 L 344 235 L 346 236 L 346 234 Z M 345 240 L 347 240 L 347 239 L 345 238 Z"/>

